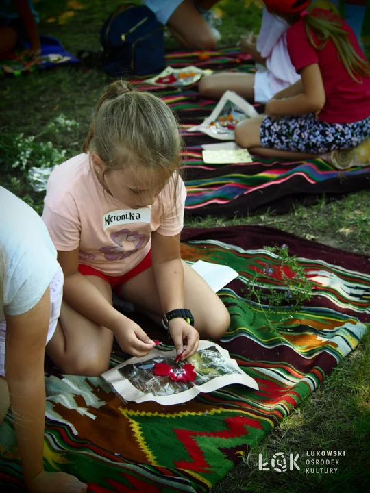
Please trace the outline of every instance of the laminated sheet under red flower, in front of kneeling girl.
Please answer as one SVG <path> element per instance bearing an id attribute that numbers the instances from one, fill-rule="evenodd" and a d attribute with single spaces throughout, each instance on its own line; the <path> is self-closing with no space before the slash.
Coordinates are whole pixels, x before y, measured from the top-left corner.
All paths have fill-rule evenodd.
<path id="1" fill-rule="evenodd" d="M 241 370 L 229 352 L 214 342 L 201 340 L 196 353 L 184 362 L 175 363 L 176 351 L 161 351 L 158 347 L 144 357 L 132 357 L 101 375 L 125 401 L 143 403 L 156 401 L 160 405 L 175 405 L 194 399 L 200 392 L 214 392 L 225 385 L 240 383 L 258 390 L 258 383 Z M 192 364 L 194 381 L 172 381 L 169 376 L 153 373 L 156 363 L 173 368 Z"/>

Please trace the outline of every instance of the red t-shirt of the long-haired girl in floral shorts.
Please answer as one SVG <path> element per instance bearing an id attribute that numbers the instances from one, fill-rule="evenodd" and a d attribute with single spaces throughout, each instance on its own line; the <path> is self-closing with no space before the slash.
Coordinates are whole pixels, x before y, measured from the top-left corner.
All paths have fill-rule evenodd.
<path id="1" fill-rule="evenodd" d="M 314 9 L 312 14 L 319 12 L 325 11 Z M 358 55 L 366 60 L 354 32 L 344 21 L 340 21 L 342 29 L 349 32 L 349 42 Z M 315 36 L 313 39 L 317 42 Z M 320 120 L 351 123 L 370 116 L 370 77 L 362 78 L 360 84 L 355 82 L 347 73 L 332 40 L 326 43 L 324 49 L 314 49 L 301 18 L 286 32 L 286 43 L 292 64 L 298 73 L 305 66 L 319 64 L 326 97 L 325 105 L 318 116 Z"/>

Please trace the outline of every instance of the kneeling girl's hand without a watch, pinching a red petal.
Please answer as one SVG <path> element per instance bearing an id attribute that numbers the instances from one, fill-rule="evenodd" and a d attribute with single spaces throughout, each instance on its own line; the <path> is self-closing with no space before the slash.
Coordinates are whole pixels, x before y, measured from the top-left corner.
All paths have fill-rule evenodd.
<path id="1" fill-rule="evenodd" d="M 119 318 L 113 332 L 121 349 L 132 356 L 145 356 L 156 346 L 140 325 L 127 317 Z"/>

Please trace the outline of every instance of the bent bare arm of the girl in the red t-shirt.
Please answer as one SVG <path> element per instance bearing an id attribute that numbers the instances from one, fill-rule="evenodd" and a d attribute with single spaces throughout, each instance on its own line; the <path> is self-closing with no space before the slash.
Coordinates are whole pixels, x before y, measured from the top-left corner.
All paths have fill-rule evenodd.
<path id="1" fill-rule="evenodd" d="M 300 81 L 299 81 L 300 82 Z M 312 64 L 301 69 L 301 86 L 299 82 L 287 88 L 286 99 L 280 99 L 284 91 L 267 101 L 266 114 L 270 116 L 303 115 L 317 113 L 325 104 L 325 89 L 319 64 Z M 298 90 L 302 89 L 301 92 Z M 297 93 L 295 91 L 297 90 Z M 290 94 L 292 92 L 292 94 Z"/>

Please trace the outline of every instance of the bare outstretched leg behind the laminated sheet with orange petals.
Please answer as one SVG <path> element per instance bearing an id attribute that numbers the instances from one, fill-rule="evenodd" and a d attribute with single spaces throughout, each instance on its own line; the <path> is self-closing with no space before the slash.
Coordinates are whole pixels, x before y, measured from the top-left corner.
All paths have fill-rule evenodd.
<path id="1" fill-rule="evenodd" d="M 204 96 L 220 99 L 224 92 L 232 90 L 239 96 L 254 101 L 254 74 L 221 72 L 207 75 L 199 82 L 199 92 Z"/>

